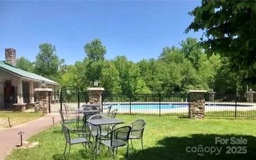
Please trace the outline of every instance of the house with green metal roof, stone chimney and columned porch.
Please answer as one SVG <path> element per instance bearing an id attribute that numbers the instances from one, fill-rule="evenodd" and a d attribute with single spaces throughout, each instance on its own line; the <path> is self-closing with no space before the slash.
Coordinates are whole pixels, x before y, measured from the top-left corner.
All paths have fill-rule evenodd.
<path id="1" fill-rule="evenodd" d="M 16 50 L 5 49 L 5 61 L 0 61 L 0 109 L 13 104 L 35 103 L 35 88 L 59 89 L 59 83 L 15 67 Z M 54 96 L 54 95 L 53 95 Z M 56 97 L 52 97 L 55 99 Z"/>

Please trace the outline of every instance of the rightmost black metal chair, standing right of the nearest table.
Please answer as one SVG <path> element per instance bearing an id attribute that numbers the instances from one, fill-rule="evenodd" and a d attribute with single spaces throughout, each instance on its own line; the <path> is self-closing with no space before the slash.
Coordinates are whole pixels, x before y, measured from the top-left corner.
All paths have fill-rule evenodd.
<path id="1" fill-rule="evenodd" d="M 143 132 L 145 129 L 146 122 L 144 120 L 136 120 L 131 123 L 131 134 L 129 139 L 131 139 L 131 144 L 133 139 L 141 139 L 141 147 L 142 151 L 144 152 L 143 149 Z M 132 145 L 133 148 L 133 145 Z"/>

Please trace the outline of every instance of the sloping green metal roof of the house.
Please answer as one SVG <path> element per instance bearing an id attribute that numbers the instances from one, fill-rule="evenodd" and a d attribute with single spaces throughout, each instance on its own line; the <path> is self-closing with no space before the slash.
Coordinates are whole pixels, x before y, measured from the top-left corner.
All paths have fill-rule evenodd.
<path id="1" fill-rule="evenodd" d="M 41 75 L 15 68 L 14 66 L 7 64 L 4 61 L 0 61 L 0 68 L 10 71 L 13 74 L 17 74 L 21 78 L 34 79 L 34 80 L 44 81 L 45 83 L 51 83 L 53 85 L 59 85 L 59 83 L 54 82 L 50 79 L 44 78 Z"/>

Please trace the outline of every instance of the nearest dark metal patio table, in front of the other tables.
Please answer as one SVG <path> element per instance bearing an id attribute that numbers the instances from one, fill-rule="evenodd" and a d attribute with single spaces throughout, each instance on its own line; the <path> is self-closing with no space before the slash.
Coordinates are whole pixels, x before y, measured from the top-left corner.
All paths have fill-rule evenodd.
<path id="1" fill-rule="evenodd" d="M 94 119 L 94 120 L 88 120 L 88 123 L 98 126 L 100 129 L 100 134 L 101 134 L 101 125 L 108 125 L 108 124 L 113 124 L 113 128 L 115 127 L 115 125 L 117 124 L 122 124 L 124 123 L 123 120 L 119 120 L 119 119 Z M 95 139 L 95 156 L 97 156 L 97 138 Z"/>

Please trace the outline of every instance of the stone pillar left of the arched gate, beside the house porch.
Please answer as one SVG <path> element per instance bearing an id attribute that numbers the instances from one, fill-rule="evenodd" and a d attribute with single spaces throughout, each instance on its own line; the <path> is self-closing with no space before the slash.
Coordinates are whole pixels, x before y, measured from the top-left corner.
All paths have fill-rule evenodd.
<path id="1" fill-rule="evenodd" d="M 49 113 L 49 92 L 51 88 L 35 88 L 36 102 L 39 104 L 39 111 Z"/>

